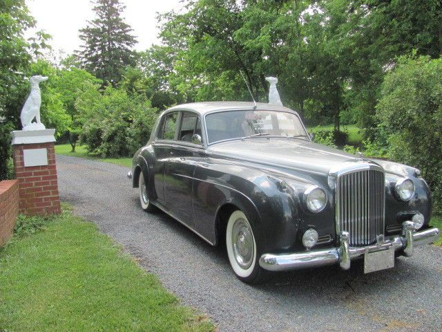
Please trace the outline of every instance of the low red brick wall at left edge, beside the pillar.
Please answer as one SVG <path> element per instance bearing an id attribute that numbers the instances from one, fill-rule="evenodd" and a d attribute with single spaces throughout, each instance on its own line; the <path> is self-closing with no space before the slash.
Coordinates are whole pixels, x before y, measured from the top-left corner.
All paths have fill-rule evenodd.
<path id="1" fill-rule="evenodd" d="M 19 181 L 0 182 L 0 246 L 11 237 L 19 214 Z"/>

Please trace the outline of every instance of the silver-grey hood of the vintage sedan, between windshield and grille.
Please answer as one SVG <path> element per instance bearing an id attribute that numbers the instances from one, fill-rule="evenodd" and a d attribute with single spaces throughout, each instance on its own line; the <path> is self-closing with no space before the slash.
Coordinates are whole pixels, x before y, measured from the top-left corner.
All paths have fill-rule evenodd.
<path id="1" fill-rule="evenodd" d="M 296 138 L 246 138 L 211 145 L 208 151 L 238 160 L 326 175 L 340 163 L 360 158 L 345 151 Z"/>

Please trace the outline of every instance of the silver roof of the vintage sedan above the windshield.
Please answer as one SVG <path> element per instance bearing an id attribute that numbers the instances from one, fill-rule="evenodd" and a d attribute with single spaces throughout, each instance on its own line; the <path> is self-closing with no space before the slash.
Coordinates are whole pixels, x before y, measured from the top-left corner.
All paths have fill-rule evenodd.
<path id="1" fill-rule="evenodd" d="M 202 115 L 211 111 L 235 111 L 242 109 L 253 109 L 253 102 L 192 102 L 189 104 L 180 104 L 168 109 L 167 111 L 195 111 Z M 262 111 L 290 111 L 287 107 L 266 104 L 264 102 L 256 103 L 257 109 Z M 294 112 L 296 113 L 296 112 Z"/>

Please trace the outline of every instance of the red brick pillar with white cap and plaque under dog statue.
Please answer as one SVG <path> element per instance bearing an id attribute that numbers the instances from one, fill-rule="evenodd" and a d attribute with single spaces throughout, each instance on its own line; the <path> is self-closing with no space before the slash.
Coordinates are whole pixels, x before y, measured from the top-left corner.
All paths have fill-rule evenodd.
<path id="1" fill-rule="evenodd" d="M 54 133 L 55 129 L 11 132 L 21 213 L 44 216 L 61 212 Z"/>

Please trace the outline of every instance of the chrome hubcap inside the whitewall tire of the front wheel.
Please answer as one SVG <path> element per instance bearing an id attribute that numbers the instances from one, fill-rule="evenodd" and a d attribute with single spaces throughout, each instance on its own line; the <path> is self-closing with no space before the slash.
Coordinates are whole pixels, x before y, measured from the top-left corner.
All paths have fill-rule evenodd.
<path id="1" fill-rule="evenodd" d="M 237 219 L 233 224 L 232 246 L 238 265 L 244 269 L 249 268 L 254 255 L 253 235 L 249 224 L 244 219 Z"/>

